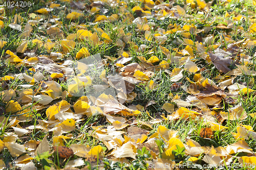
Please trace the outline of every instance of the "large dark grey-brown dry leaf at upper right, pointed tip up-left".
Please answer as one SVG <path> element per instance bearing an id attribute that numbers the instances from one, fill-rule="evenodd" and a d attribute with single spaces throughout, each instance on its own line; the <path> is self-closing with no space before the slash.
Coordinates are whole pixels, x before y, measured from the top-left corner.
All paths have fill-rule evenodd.
<path id="1" fill-rule="evenodd" d="M 210 56 L 212 64 L 214 64 L 219 71 L 224 72 L 224 74 L 227 74 L 228 71 L 231 71 L 231 69 L 228 68 L 228 66 L 232 64 L 232 60 L 230 58 L 217 56 L 216 54 L 212 54 L 211 52 L 209 52 L 208 54 Z"/>

